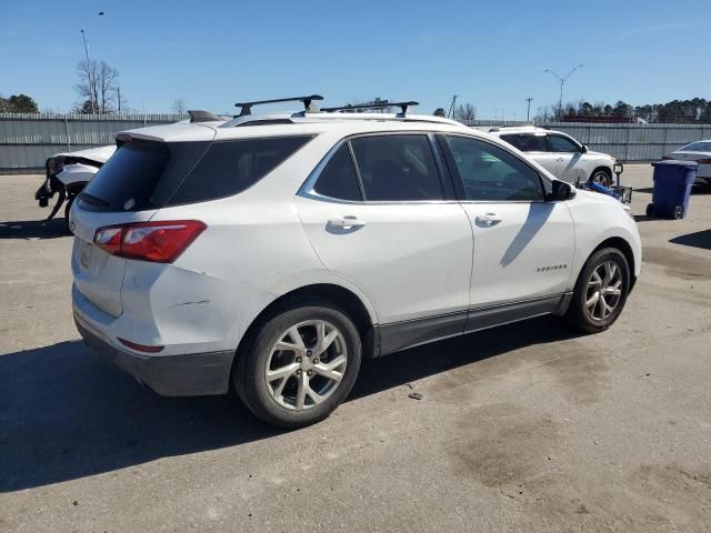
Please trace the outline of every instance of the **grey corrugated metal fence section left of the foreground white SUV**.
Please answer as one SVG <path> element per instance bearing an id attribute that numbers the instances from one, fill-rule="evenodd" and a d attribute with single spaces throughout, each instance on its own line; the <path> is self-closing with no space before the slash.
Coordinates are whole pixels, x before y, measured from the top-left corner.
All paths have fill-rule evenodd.
<path id="1" fill-rule="evenodd" d="M 119 131 L 179 120 L 177 114 L 0 113 L 0 172 L 43 171 L 54 153 L 113 144 Z"/>

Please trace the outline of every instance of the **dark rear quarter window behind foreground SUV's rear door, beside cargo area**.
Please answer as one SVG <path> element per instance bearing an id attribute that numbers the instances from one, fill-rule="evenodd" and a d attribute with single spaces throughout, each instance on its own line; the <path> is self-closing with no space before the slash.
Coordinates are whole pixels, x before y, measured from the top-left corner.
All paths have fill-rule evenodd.
<path id="1" fill-rule="evenodd" d="M 168 203 L 198 202 L 242 192 L 274 170 L 309 139 L 278 137 L 214 142 Z"/>

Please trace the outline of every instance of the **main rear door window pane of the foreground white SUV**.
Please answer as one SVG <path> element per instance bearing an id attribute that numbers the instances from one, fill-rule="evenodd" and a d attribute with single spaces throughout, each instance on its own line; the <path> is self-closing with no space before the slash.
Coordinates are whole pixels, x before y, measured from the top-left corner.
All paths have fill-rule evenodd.
<path id="1" fill-rule="evenodd" d="M 351 141 L 365 200 L 442 200 L 425 135 L 372 135 Z"/>

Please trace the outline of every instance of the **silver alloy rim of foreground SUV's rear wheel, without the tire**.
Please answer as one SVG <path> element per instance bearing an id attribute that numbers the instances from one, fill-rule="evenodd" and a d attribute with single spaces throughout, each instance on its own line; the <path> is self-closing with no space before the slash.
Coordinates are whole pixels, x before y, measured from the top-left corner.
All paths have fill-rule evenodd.
<path id="1" fill-rule="evenodd" d="M 264 379 L 269 395 L 282 408 L 312 409 L 338 389 L 348 362 L 343 334 L 330 322 L 292 325 L 272 346 Z"/>

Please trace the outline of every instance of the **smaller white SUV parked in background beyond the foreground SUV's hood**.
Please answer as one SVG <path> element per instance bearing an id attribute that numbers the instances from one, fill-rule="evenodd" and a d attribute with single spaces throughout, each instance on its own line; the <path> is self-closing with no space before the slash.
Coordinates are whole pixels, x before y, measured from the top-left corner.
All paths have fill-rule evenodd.
<path id="1" fill-rule="evenodd" d="M 613 184 L 614 158 L 588 150 L 562 131 L 524 125 L 493 128 L 490 133 L 524 152 L 559 180 L 570 183 L 595 181 L 605 187 Z"/>

